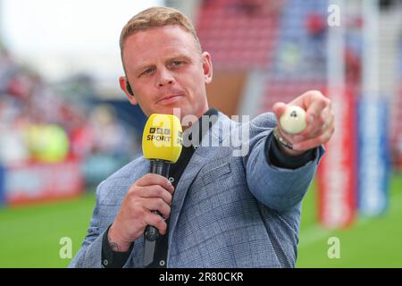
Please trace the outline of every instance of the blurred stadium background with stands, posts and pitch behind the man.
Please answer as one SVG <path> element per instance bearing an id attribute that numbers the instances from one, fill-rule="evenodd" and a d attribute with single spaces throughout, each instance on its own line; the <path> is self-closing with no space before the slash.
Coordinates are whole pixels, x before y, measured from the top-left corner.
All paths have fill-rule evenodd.
<path id="1" fill-rule="evenodd" d="M 0 0 L 0 267 L 69 265 L 97 184 L 141 155 L 146 118 L 119 88 L 118 41 L 154 5 L 194 21 L 223 113 L 331 97 L 297 267 L 402 267 L 399 0 Z"/>

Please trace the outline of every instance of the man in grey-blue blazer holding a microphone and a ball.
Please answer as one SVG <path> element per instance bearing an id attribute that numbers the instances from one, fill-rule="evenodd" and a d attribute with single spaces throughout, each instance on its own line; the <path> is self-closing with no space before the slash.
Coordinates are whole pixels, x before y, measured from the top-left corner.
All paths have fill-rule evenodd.
<path id="1" fill-rule="evenodd" d="M 180 119 L 216 117 L 206 129 L 197 120 L 183 126 L 199 128 L 201 143 L 230 136 L 237 123 L 208 107 L 211 55 L 202 52 L 186 16 L 147 9 L 122 29 L 120 44 L 120 86 L 132 105 L 147 116 L 179 108 Z M 301 200 L 334 128 L 331 101 L 319 91 L 289 105 L 306 110 L 306 130 L 289 135 L 278 126 L 273 137 L 275 116 L 261 114 L 248 125 L 244 156 L 201 144 L 183 148 L 171 180 L 148 173 L 144 157 L 115 172 L 96 191 L 88 235 L 71 266 L 143 267 L 143 233 L 152 225 L 161 236 L 149 267 L 293 267 Z M 277 118 L 286 107 L 273 106 Z"/>

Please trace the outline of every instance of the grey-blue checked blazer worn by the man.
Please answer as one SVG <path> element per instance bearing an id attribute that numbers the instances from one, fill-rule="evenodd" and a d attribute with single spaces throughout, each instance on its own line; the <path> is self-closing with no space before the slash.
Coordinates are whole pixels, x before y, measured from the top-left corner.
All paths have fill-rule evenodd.
<path id="1" fill-rule="evenodd" d="M 323 148 L 296 170 L 275 167 L 264 154 L 275 124 L 271 113 L 243 124 L 219 114 L 175 189 L 167 267 L 295 266 L 301 200 Z M 239 126 L 249 127 L 245 156 L 233 156 L 235 147 L 225 144 Z M 215 147 L 204 146 L 208 141 Z M 148 170 L 139 157 L 98 186 L 88 234 L 70 267 L 101 267 L 104 232 L 130 185 Z M 142 267 L 143 242 L 143 236 L 135 240 L 124 267 Z"/>

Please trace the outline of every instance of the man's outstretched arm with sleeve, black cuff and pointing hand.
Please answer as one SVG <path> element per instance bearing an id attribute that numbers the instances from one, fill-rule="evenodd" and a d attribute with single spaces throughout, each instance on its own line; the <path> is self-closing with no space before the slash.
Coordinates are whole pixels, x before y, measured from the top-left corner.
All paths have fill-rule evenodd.
<path id="1" fill-rule="evenodd" d="M 289 105 L 302 107 L 307 116 L 306 130 L 295 135 L 283 131 L 280 124 L 276 126 L 276 131 L 293 149 L 278 144 L 272 134 L 275 128 L 272 124 L 268 130 L 259 132 L 250 140 L 250 153 L 246 160 L 247 183 L 251 192 L 265 206 L 278 211 L 296 206 L 305 196 L 323 154 L 322 144 L 331 139 L 334 131 L 331 101 L 320 92 L 308 91 Z M 276 117 L 280 118 L 289 105 L 274 105 Z M 255 129 L 264 124 L 266 127 L 264 118 L 256 118 Z"/>

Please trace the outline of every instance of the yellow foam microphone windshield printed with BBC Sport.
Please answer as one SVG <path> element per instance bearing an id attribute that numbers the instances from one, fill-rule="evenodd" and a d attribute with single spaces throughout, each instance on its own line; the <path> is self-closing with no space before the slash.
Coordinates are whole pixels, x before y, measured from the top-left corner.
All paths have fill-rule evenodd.
<path id="1" fill-rule="evenodd" d="M 142 135 L 142 152 L 146 159 L 176 163 L 180 157 L 182 129 L 172 114 L 151 114 Z"/>

